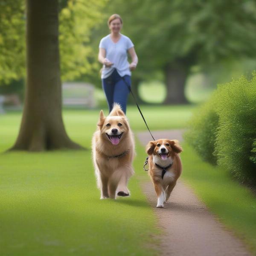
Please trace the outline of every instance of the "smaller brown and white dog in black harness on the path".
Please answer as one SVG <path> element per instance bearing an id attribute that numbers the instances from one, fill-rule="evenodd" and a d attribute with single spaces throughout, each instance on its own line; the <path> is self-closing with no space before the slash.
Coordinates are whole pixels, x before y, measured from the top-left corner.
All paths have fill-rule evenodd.
<path id="1" fill-rule="evenodd" d="M 179 153 L 182 148 L 177 140 L 160 139 L 146 146 L 149 176 L 157 193 L 157 208 L 169 199 L 182 171 Z"/>

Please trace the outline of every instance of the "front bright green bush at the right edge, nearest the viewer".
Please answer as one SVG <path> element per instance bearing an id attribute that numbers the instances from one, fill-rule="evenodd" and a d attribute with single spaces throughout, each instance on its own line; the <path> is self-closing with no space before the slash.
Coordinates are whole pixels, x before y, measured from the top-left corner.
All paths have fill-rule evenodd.
<path id="1" fill-rule="evenodd" d="M 225 84 L 217 111 L 218 163 L 239 180 L 256 181 L 256 163 L 250 160 L 256 139 L 256 73 L 250 81 L 242 76 Z"/>

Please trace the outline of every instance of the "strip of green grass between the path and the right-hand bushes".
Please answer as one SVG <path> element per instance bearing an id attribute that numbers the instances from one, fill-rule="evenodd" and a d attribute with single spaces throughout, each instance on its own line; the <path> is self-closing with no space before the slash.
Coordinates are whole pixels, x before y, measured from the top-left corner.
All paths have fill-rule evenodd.
<path id="1" fill-rule="evenodd" d="M 256 255 L 255 195 L 233 180 L 227 170 L 202 162 L 189 145 L 183 149 L 182 179 Z"/>

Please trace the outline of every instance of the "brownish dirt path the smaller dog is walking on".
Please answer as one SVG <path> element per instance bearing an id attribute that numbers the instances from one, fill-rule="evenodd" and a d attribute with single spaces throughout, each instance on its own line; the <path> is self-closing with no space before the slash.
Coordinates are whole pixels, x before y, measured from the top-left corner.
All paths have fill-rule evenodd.
<path id="1" fill-rule="evenodd" d="M 182 131 L 154 131 L 154 138 L 182 140 Z M 148 132 L 138 133 L 143 145 L 152 140 Z M 186 172 L 186 170 L 184 170 Z M 164 209 L 156 208 L 157 197 L 151 182 L 143 184 L 160 227 L 161 255 L 173 256 L 247 256 L 244 245 L 216 220 L 198 200 L 192 189 L 178 180 Z"/>

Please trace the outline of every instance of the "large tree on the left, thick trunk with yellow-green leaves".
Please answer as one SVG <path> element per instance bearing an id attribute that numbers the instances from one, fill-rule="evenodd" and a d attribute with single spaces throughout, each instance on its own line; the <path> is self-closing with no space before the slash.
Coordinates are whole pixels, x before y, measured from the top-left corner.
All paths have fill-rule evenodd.
<path id="1" fill-rule="evenodd" d="M 90 30 L 101 22 L 105 2 L 27 0 L 26 12 L 23 0 L 0 2 L 0 85 L 23 78 L 26 70 L 22 122 L 11 150 L 81 148 L 64 128 L 61 77 L 71 80 L 92 70 Z"/>

